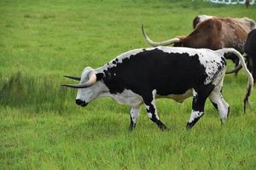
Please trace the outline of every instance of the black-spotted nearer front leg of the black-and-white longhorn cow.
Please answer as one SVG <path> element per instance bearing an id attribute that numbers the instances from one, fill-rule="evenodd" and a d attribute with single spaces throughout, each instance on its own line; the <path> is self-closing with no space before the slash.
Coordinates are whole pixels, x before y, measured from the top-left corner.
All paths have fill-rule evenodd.
<path id="1" fill-rule="evenodd" d="M 143 100 L 146 106 L 146 110 L 148 113 L 148 117 L 150 120 L 157 124 L 158 127 L 160 127 L 161 130 L 166 130 L 166 125 L 160 121 L 160 118 L 157 114 L 156 106 L 155 106 L 155 94 L 156 91 L 154 90 L 152 95 L 144 96 Z"/>

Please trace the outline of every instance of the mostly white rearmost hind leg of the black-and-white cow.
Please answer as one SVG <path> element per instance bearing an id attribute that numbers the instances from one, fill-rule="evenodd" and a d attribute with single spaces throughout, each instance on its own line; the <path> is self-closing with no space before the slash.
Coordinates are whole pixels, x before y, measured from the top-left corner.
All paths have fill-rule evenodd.
<path id="1" fill-rule="evenodd" d="M 218 85 L 212 90 L 212 93 L 209 95 L 209 99 L 212 102 L 212 105 L 218 110 L 218 114 L 221 118 L 221 122 L 225 122 L 230 112 L 230 105 L 224 100 L 221 93 L 223 85 L 223 80 L 218 82 Z"/>

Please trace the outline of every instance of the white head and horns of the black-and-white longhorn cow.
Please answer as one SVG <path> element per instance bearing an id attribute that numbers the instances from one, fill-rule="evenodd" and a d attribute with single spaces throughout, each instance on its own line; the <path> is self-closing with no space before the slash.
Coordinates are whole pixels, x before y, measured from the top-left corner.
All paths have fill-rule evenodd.
<path id="1" fill-rule="evenodd" d="M 96 71 L 90 67 L 86 67 L 82 72 L 81 77 L 69 77 L 77 81 L 79 84 L 63 84 L 62 86 L 68 88 L 79 88 L 76 104 L 86 106 L 90 101 L 99 97 L 102 92 L 107 92 L 108 88 L 102 82 L 103 73 L 96 74 Z"/>

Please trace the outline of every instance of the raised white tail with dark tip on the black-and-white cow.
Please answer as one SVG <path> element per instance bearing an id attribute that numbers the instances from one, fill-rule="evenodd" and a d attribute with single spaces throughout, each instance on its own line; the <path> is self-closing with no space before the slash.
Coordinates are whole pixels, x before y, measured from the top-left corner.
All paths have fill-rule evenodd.
<path id="1" fill-rule="evenodd" d="M 243 99 L 243 111 L 245 113 L 246 112 L 246 105 L 248 104 L 250 106 L 250 104 L 249 104 L 249 96 L 250 96 L 250 94 L 251 94 L 251 92 L 253 90 L 253 76 L 250 73 L 250 71 L 248 71 L 247 65 L 245 63 L 245 60 L 243 59 L 241 54 L 238 51 L 236 51 L 236 49 L 234 49 L 234 48 L 222 48 L 222 49 L 219 49 L 218 52 L 221 52 L 223 54 L 228 54 L 228 53 L 236 54 L 236 56 L 240 60 L 242 68 L 247 73 L 247 77 L 248 77 L 247 92 L 246 92 L 246 94 L 244 96 L 244 99 Z"/>

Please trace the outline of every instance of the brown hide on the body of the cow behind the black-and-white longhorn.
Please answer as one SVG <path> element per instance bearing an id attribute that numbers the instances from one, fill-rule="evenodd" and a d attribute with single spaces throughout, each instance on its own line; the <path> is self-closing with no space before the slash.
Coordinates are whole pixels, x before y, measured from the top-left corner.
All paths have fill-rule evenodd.
<path id="1" fill-rule="evenodd" d="M 254 26 L 252 20 L 212 18 L 199 23 L 189 36 L 181 37 L 174 46 L 189 48 L 236 48 L 241 53 L 247 34 Z"/>

